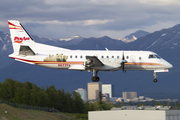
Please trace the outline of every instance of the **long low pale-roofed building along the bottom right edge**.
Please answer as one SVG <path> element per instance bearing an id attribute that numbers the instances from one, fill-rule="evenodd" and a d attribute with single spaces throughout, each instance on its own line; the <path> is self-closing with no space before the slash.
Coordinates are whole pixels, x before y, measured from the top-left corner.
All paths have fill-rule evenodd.
<path id="1" fill-rule="evenodd" d="M 88 117 L 88 120 L 180 120 L 180 110 L 92 111 Z"/>

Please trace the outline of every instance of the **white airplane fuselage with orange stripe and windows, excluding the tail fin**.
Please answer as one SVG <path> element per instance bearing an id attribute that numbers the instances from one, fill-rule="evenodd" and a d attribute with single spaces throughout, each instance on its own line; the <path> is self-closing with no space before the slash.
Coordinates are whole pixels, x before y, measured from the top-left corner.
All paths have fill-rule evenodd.
<path id="1" fill-rule="evenodd" d="M 121 70 L 122 54 L 124 54 L 125 70 L 164 70 L 172 65 L 151 51 L 92 51 L 92 50 L 47 50 L 35 51 L 33 56 L 13 55 L 10 57 L 27 63 L 48 68 L 87 70 L 86 56 L 96 56 L 105 66 L 94 67 L 98 71 Z M 57 57 L 57 55 L 61 55 Z M 154 55 L 154 57 L 150 57 Z M 64 59 L 66 60 L 58 60 Z M 47 58 L 47 59 L 46 59 Z M 46 60 L 45 60 L 46 59 Z M 93 68 L 91 68 L 93 69 Z"/>

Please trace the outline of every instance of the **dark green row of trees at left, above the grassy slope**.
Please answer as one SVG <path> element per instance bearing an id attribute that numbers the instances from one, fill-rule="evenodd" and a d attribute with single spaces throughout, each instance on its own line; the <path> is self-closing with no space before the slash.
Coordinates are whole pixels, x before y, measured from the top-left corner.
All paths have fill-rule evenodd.
<path id="1" fill-rule="evenodd" d="M 49 87 L 38 87 L 30 82 L 19 82 L 10 78 L 0 83 L 0 99 L 9 102 L 54 107 L 61 112 L 87 113 L 95 110 L 109 110 L 111 103 L 100 101 L 84 102 L 77 92 L 65 92 L 64 89 L 56 89 L 54 85 Z"/>

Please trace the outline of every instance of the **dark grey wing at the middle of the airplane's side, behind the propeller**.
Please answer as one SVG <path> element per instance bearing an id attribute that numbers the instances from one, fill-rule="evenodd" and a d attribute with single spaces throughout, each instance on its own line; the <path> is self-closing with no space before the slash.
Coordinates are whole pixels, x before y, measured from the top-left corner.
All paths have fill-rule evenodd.
<path id="1" fill-rule="evenodd" d="M 101 67 L 104 64 L 96 56 L 86 56 L 86 67 Z"/>

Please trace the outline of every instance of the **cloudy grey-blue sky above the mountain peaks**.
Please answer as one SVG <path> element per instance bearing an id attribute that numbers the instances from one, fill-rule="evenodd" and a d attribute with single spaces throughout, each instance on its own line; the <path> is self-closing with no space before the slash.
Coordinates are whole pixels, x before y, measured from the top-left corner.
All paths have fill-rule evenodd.
<path id="1" fill-rule="evenodd" d="M 33 35 L 48 38 L 123 38 L 180 24 L 179 0 L 3 0 L 0 31 L 19 20 Z"/>

